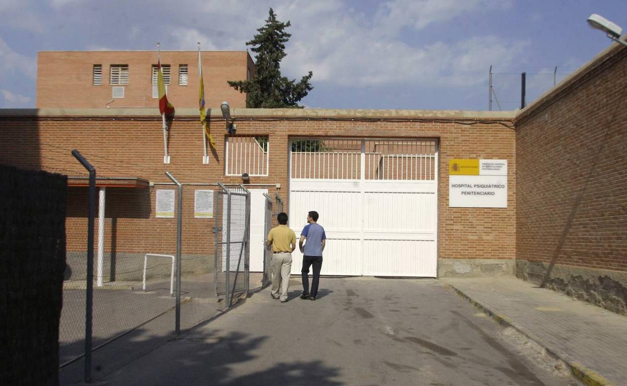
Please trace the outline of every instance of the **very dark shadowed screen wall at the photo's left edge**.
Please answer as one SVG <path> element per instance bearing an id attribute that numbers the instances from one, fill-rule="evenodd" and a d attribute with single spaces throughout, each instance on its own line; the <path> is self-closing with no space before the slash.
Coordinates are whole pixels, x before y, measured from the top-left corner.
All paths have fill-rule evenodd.
<path id="1" fill-rule="evenodd" d="M 0 384 L 58 385 L 66 178 L 0 165 Z"/>

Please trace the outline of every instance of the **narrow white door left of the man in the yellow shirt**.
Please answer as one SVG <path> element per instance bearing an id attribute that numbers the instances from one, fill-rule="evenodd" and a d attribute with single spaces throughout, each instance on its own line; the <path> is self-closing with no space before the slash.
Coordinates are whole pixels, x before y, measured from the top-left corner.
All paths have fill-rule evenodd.
<path id="1" fill-rule="evenodd" d="M 250 190 L 250 272 L 263 272 L 267 189 Z"/>

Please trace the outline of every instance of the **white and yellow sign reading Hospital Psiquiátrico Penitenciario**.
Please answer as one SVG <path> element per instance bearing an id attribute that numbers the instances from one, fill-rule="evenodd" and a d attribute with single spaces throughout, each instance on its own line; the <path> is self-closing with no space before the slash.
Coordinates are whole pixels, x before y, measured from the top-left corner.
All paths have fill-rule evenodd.
<path id="1" fill-rule="evenodd" d="M 448 206 L 507 208 L 507 160 L 450 161 Z"/>

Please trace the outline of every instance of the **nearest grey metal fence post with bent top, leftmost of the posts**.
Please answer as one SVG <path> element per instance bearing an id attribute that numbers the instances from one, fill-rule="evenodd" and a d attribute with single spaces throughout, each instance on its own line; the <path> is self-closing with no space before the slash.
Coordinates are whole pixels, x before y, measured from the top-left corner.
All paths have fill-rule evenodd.
<path id="1" fill-rule="evenodd" d="M 92 382 L 92 312 L 93 312 L 93 223 L 96 207 L 96 170 L 78 150 L 72 155 L 89 171 L 87 210 L 87 293 L 85 295 L 85 383 Z"/>

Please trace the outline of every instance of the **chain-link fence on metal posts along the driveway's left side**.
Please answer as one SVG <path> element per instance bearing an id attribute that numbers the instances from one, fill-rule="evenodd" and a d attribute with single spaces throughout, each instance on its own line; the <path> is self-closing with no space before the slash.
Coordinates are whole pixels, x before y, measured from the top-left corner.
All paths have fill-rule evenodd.
<path id="1" fill-rule="evenodd" d="M 89 189 L 68 190 L 61 384 L 112 372 L 248 293 L 245 188 L 96 180 L 92 221 Z"/>

